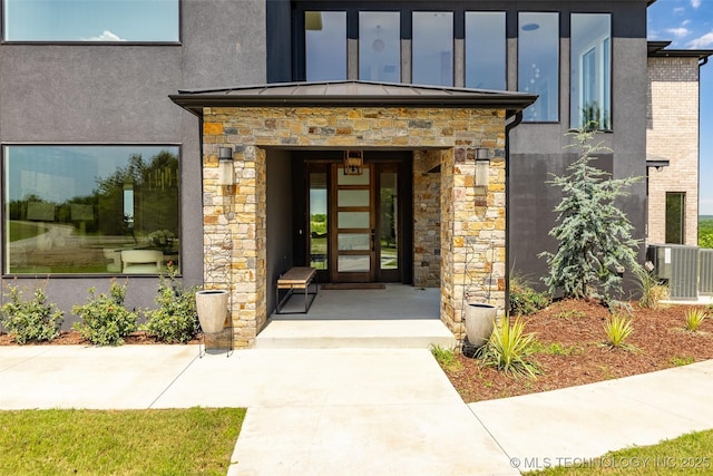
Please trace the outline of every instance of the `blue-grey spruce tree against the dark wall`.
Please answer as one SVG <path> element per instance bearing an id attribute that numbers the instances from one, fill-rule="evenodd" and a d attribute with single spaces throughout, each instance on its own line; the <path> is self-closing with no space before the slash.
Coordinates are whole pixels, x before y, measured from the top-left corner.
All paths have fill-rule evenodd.
<path id="1" fill-rule="evenodd" d="M 563 176 L 549 183 L 561 188 L 563 200 L 554 210 L 557 224 L 549 235 L 558 241 L 557 252 L 543 252 L 548 274 L 543 281 L 554 295 L 564 298 L 613 300 L 622 292 L 624 269 L 639 266 L 636 262 L 638 243 L 632 237 L 633 225 L 615 202 L 628 195 L 625 188 L 638 177 L 617 178 L 592 165 L 596 154 L 611 150 L 602 143 L 593 144 L 594 132 L 568 134 L 579 158 L 567 167 Z"/>

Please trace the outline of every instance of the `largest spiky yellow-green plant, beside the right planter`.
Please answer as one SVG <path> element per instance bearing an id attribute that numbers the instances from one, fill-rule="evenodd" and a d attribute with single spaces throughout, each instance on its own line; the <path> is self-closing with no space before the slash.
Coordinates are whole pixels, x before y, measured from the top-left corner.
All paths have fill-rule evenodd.
<path id="1" fill-rule="evenodd" d="M 535 378 L 540 370 L 531 357 L 538 349 L 534 333 L 525 333 L 525 322 L 517 317 L 510 324 L 505 318 L 478 351 L 485 366 L 495 367 L 512 377 Z"/>

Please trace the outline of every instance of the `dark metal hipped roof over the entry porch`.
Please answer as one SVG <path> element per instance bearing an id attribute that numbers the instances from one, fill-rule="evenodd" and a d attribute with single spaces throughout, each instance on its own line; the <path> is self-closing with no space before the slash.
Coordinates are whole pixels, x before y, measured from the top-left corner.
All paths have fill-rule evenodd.
<path id="1" fill-rule="evenodd" d="M 204 107 L 422 106 L 504 108 L 509 117 L 537 100 L 537 95 L 514 91 L 356 80 L 180 89 L 168 97 L 196 116 Z"/>

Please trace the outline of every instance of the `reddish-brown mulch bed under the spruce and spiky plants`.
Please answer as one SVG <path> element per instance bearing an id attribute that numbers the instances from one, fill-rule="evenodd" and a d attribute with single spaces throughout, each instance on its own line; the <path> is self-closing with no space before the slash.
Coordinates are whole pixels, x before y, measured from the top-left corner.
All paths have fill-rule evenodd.
<path id="1" fill-rule="evenodd" d="M 598 302 L 565 300 L 525 317 L 526 332 L 534 332 L 547 350 L 535 357 L 543 375 L 537 379 L 512 378 L 480 360 L 457 356 L 460 366 L 446 373 L 465 401 L 489 400 L 554 390 L 583 383 L 662 370 L 713 359 L 713 318 L 697 332 L 684 330 L 690 305 L 644 309 L 632 303 L 634 332 L 626 342 L 635 350 L 604 346 L 604 323 L 609 311 Z M 713 310 L 700 307 L 713 313 Z"/>

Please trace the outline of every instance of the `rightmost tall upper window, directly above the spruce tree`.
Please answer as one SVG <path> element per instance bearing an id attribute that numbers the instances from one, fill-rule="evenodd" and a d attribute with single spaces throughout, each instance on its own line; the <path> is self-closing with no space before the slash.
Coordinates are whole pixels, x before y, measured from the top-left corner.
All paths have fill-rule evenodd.
<path id="1" fill-rule="evenodd" d="M 612 128 L 612 18 L 572 14 L 570 126 Z"/>

